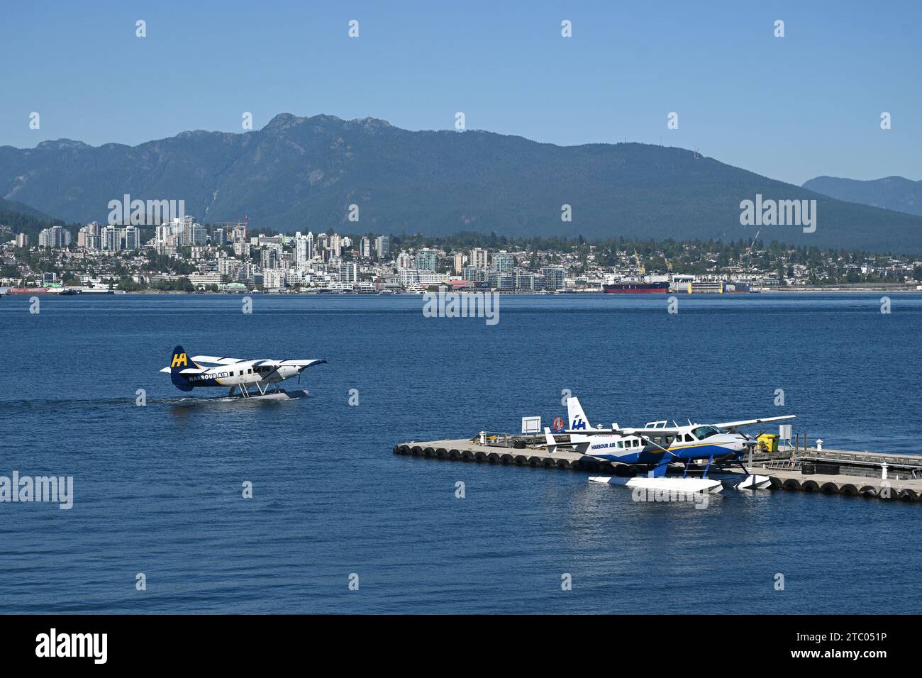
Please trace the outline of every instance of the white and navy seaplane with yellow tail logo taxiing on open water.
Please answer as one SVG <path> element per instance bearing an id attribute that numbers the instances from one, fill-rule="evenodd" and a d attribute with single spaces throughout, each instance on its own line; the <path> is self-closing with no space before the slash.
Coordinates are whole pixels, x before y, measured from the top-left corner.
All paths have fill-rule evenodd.
<path id="1" fill-rule="evenodd" d="M 233 398 L 235 391 L 240 389 L 239 398 L 291 399 L 303 398 L 307 391 L 286 391 L 278 385 L 295 376 L 301 383 L 304 370 L 323 363 L 326 361 L 243 360 L 213 355 L 189 357 L 182 346 L 177 346 L 172 351 L 170 366 L 160 372 L 169 373 L 173 386 L 181 391 L 200 387 L 230 387 L 229 398 Z"/>

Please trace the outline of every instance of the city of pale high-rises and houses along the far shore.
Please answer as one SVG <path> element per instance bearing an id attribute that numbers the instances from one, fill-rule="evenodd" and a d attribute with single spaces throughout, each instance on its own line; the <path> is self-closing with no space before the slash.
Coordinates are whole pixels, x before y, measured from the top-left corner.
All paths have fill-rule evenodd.
<path id="1" fill-rule="evenodd" d="M 9 231 L 8 227 L 6 231 Z M 3 232 L 0 231 L 0 235 Z M 859 286 L 909 291 L 922 261 L 862 252 L 791 249 L 784 244 L 660 243 L 501 246 L 409 242 L 337 232 L 266 234 L 245 223 L 206 227 L 186 215 L 142 242 L 133 225 L 90 222 L 76 238 L 43 229 L 38 247 L 26 233 L 6 242 L 0 293 L 64 291 L 294 291 L 396 293 L 450 289 L 497 292 L 634 290 L 699 293 L 837 291 Z M 638 247 L 644 256 L 638 253 Z M 11 262 L 11 263 L 10 263 Z M 653 275 L 650 275 L 650 274 Z M 6 287 L 3 285 L 6 284 Z M 16 285 L 18 284 L 18 287 Z M 30 286 L 31 285 L 31 286 Z M 41 287 L 37 287 L 41 286 Z"/>

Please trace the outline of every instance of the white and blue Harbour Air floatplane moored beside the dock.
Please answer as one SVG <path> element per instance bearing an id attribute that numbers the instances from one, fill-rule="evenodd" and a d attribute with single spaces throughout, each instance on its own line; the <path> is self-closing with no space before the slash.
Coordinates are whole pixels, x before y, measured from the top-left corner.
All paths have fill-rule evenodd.
<path id="1" fill-rule="evenodd" d="M 611 428 L 590 427 L 577 398 L 567 398 L 569 427 L 560 420 L 555 433 L 568 434 L 569 441 L 558 443 L 550 428 L 544 434 L 549 453 L 558 447 L 570 447 L 576 452 L 632 466 L 646 467 L 645 476 L 596 476 L 590 482 L 642 487 L 684 493 L 716 493 L 724 487 L 759 490 L 768 487 L 768 476 L 754 475 L 746 469 L 743 458 L 757 446 L 758 440 L 739 429 L 760 423 L 794 419 L 796 415 L 745 419 L 738 422 L 691 423 L 679 425 L 666 421 L 647 422 L 641 428 L 625 428 L 612 423 Z M 667 476 L 669 465 L 684 465 L 680 476 Z M 739 465 L 742 473 L 730 472 L 725 466 Z M 703 467 L 703 468 L 702 468 Z"/>

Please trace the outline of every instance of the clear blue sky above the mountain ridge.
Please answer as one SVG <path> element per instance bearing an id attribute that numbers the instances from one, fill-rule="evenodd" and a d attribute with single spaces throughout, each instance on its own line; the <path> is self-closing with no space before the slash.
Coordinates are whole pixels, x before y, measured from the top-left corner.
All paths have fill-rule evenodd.
<path id="1" fill-rule="evenodd" d="M 449 129 L 463 111 L 469 129 L 562 145 L 662 140 L 796 184 L 922 178 L 917 0 L 130 5 L 6 7 L 0 145 L 242 131 L 244 111 L 256 128 L 286 112 Z"/>

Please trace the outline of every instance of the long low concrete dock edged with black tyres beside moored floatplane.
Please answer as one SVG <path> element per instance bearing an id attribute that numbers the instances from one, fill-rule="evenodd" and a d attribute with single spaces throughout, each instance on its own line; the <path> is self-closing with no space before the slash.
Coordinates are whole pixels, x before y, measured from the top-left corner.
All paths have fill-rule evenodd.
<path id="1" fill-rule="evenodd" d="M 532 466 L 546 469 L 577 470 L 613 476 L 632 476 L 643 472 L 637 467 L 588 457 L 570 449 L 558 448 L 553 453 L 538 447 L 542 439 L 519 434 L 488 434 L 481 443 L 473 438 L 410 442 L 394 446 L 394 454 L 414 457 L 454 459 L 490 464 Z M 886 478 L 883 467 L 886 464 Z M 821 470 L 810 472 L 820 465 Z M 747 463 L 753 473 L 772 479 L 772 489 L 800 490 L 822 494 L 922 501 L 922 457 L 892 455 L 851 450 L 799 449 L 779 450 L 774 454 L 755 454 Z M 804 467 L 807 467 L 806 471 Z M 680 465 L 675 465 L 680 470 Z M 834 472 L 834 471 L 838 472 Z M 917 476 L 917 477 L 916 477 Z"/>

